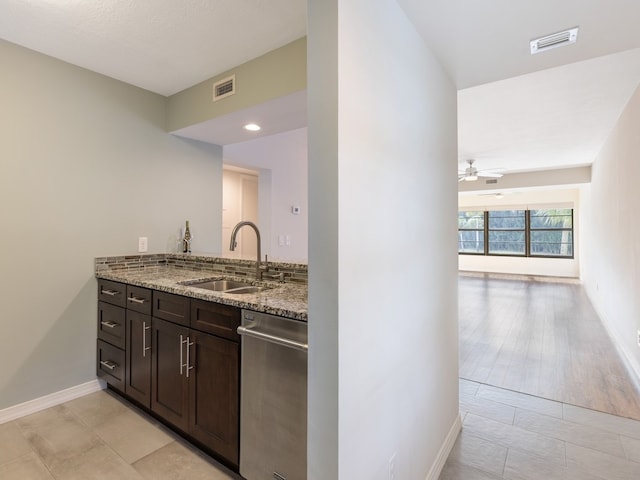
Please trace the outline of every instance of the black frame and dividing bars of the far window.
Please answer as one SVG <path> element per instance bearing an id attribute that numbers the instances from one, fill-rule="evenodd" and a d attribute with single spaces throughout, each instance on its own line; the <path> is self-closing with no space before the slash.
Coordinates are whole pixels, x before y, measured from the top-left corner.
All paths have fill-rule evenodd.
<path id="1" fill-rule="evenodd" d="M 460 251 L 460 243 L 458 240 L 458 255 L 475 255 L 475 256 L 487 256 L 487 257 L 514 257 L 514 258 L 554 258 L 558 260 L 572 260 L 575 259 L 575 212 L 574 208 L 564 208 L 566 210 L 571 211 L 571 227 L 563 227 L 563 228 L 531 228 L 531 211 L 532 210 L 545 210 L 544 207 L 541 208 L 518 208 L 514 206 L 509 210 L 524 210 L 525 214 L 525 253 L 524 254 L 514 254 L 514 253 L 489 253 L 489 212 L 490 211 L 499 211 L 499 210 L 479 210 L 470 207 L 469 209 L 458 210 L 458 212 L 483 212 L 484 215 L 484 252 L 461 252 Z M 501 210 L 501 209 L 500 209 Z M 461 229 L 458 228 L 458 232 L 461 231 L 480 231 L 479 229 Z M 493 229 L 493 231 L 499 231 Z M 522 231 L 521 229 L 514 229 L 513 231 Z M 544 232 L 544 231 L 565 231 L 571 233 L 571 255 L 541 255 L 536 253 L 531 253 L 531 232 Z M 459 238 L 459 237 L 458 237 Z"/>

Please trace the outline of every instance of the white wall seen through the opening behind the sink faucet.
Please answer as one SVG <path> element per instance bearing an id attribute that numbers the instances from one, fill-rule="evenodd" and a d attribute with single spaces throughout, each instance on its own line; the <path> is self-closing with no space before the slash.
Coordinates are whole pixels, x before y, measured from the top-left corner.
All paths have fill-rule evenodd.
<path id="1" fill-rule="evenodd" d="M 260 172 L 263 252 L 273 260 L 306 263 L 309 243 L 307 129 L 225 145 L 224 158 L 225 163 Z M 300 214 L 291 213 L 294 205 L 300 207 Z"/>

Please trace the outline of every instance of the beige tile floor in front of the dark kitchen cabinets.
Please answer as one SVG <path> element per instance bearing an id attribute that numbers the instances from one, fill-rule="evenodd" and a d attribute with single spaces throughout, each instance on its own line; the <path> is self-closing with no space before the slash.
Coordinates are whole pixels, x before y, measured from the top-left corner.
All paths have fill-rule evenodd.
<path id="1" fill-rule="evenodd" d="M 0 425 L 1 480 L 237 480 L 108 391 Z"/>

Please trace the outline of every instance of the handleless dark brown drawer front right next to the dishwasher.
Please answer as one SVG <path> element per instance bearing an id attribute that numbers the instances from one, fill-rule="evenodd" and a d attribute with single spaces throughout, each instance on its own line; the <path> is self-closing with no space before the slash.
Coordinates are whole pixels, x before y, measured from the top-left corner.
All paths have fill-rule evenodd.
<path id="1" fill-rule="evenodd" d="M 191 300 L 191 328 L 239 342 L 240 336 L 236 332 L 239 325 L 238 307 Z"/>

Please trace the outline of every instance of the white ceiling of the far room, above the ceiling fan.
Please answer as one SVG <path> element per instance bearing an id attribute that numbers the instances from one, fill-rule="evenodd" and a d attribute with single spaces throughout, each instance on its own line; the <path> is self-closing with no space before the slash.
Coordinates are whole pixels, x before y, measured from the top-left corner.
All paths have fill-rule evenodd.
<path id="1" fill-rule="evenodd" d="M 635 49 L 459 90 L 459 161 L 511 173 L 589 165 L 639 83 Z"/>

